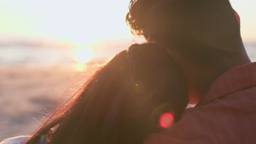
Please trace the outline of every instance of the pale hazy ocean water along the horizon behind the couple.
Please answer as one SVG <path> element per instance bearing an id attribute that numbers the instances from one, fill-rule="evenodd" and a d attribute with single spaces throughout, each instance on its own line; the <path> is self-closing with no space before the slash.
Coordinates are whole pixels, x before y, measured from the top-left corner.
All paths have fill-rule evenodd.
<path id="1" fill-rule="evenodd" d="M 107 46 L 104 46 L 107 49 Z M 113 46 L 110 50 L 102 50 L 101 55 L 97 55 L 101 60 L 113 57 L 115 53 L 126 48 L 125 45 Z M 245 43 L 249 57 L 256 61 L 256 43 Z M 101 51 L 98 51 L 100 53 Z M 56 49 L 33 46 L 0 46 L 0 68 L 2 67 L 53 67 L 67 66 L 76 63 L 74 49 Z"/>

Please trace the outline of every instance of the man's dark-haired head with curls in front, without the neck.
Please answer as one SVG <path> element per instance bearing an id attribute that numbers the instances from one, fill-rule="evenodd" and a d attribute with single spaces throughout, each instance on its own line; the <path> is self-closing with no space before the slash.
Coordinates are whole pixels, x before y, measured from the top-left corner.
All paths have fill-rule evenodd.
<path id="1" fill-rule="evenodd" d="M 126 21 L 133 33 L 198 65 L 212 64 L 243 47 L 228 0 L 132 0 Z"/>

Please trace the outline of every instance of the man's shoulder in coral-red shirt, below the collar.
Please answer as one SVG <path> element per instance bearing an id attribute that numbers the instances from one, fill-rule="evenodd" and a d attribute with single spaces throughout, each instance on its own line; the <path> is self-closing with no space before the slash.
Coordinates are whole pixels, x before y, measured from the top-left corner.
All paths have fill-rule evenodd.
<path id="1" fill-rule="evenodd" d="M 253 130 L 256 129 L 254 103 L 256 97 L 252 96 L 254 91 L 256 92 L 256 87 L 243 89 L 210 103 L 189 108 L 173 127 L 150 136 L 148 140 L 182 144 L 188 141 L 189 143 L 256 142 Z"/>

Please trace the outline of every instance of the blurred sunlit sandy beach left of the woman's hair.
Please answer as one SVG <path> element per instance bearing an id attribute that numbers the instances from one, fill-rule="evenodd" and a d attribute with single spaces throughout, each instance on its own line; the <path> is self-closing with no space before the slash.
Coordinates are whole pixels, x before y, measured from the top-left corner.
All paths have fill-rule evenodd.
<path id="1" fill-rule="evenodd" d="M 89 75 L 59 67 L 1 68 L 0 141 L 32 134 L 58 100 L 70 97 Z"/>

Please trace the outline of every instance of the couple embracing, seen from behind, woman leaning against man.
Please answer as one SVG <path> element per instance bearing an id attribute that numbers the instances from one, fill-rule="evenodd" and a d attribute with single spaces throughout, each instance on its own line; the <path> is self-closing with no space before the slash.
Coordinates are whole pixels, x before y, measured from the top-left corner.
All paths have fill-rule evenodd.
<path id="1" fill-rule="evenodd" d="M 34 134 L 2 143 L 256 143 L 256 64 L 230 2 L 129 8 L 127 23 L 147 43 L 102 65 Z"/>

